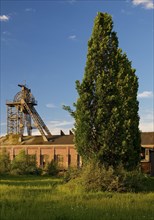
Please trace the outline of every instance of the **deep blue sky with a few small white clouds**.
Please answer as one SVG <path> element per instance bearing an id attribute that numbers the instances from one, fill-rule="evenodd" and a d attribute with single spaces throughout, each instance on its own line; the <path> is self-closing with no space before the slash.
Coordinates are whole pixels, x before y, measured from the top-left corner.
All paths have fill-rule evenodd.
<path id="1" fill-rule="evenodd" d="M 140 129 L 154 131 L 153 0 L 1 1 L 0 132 L 6 133 L 6 100 L 25 83 L 51 133 L 65 133 L 73 119 L 62 109 L 76 101 L 87 42 L 97 12 L 112 15 L 119 47 L 139 78 Z"/>

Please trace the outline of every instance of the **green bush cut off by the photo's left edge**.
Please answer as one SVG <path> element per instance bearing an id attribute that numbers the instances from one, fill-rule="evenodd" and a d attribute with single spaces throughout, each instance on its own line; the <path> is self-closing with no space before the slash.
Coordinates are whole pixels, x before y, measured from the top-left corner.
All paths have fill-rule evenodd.
<path id="1" fill-rule="evenodd" d="M 0 174 L 8 174 L 10 172 L 10 155 L 6 148 L 3 148 L 0 153 Z"/>

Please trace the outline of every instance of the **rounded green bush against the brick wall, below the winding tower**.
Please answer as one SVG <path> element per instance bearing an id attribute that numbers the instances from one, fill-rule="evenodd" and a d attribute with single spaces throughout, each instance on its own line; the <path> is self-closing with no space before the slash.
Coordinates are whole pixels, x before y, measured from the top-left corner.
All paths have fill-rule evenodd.
<path id="1" fill-rule="evenodd" d="M 28 155 L 21 150 L 13 159 L 11 165 L 12 174 L 37 174 L 36 155 Z"/>

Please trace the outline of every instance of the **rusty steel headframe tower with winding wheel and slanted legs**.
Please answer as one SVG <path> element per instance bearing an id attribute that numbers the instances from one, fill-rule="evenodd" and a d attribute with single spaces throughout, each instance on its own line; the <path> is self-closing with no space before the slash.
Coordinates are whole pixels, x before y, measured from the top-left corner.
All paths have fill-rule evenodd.
<path id="1" fill-rule="evenodd" d="M 48 141 L 52 136 L 42 118 L 36 111 L 37 101 L 26 85 L 18 85 L 21 91 L 18 92 L 13 101 L 7 101 L 7 134 L 24 134 L 27 127 L 27 134 L 32 135 L 32 121 L 40 131 L 44 141 Z"/>

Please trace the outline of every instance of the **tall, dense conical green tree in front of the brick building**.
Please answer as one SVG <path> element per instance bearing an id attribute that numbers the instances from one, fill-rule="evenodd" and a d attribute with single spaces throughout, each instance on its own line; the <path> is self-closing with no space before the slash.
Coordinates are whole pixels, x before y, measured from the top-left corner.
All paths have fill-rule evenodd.
<path id="1" fill-rule="evenodd" d="M 75 111 L 75 145 L 83 160 L 134 169 L 140 160 L 138 79 L 118 47 L 112 17 L 98 13 L 88 42 L 87 62 Z"/>

